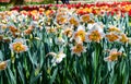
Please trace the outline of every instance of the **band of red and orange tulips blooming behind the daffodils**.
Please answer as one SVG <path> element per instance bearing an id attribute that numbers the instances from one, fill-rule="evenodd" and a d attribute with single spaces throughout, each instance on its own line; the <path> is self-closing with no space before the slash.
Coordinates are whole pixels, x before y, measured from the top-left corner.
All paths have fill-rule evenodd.
<path id="1" fill-rule="evenodd" d="M 105 13 L 105 11 L 111 15 L 114 14 L 120 14 L 129 12 L 129 15 L 131 16 L 131 2 L 130 1 L 123 1 L 123 2 L 96 2 L 96 3 L 76 3 L 76 4 L 46 4 L 46 5 L 32 5 L 32 7 L 13 7 L 11 10 L 39 10 L 39 8 L 47 9 L 56 9 L 56 8 L 64 8 L 68 9 L 74 9 L 78 14 L 87 14 L 87 13 L 94 13 L 96 15 L 102 15 Z M 43 9 L 39 10 L 39 12 L 45 11 Z"/>

